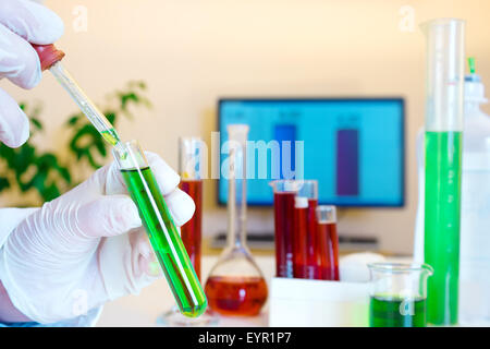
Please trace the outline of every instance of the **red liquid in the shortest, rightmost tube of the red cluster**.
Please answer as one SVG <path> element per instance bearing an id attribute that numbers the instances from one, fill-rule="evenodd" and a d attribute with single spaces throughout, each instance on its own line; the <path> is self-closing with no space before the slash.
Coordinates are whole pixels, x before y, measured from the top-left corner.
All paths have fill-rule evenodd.
<path id="1" fill-rule="evenodd" d="M 321 263 L 320 278 L 339 281 L 339 237 L 336 224 L 317 224 L 319 254 Z"/>

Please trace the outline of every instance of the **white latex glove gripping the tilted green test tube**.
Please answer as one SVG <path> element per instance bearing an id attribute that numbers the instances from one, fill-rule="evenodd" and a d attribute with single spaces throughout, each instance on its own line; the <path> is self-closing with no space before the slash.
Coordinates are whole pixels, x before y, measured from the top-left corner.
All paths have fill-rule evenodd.
<path id="1" fill-rule="evenodd" d="M 177 226 L 194 214 L 179 176 L 147 159 Z M 136 205 L 112 164 L 27 216 L 0 250 L 0 279 L 15 308 L 44 324 L 73 318 L 118 297 L 138 293 L 155 255 Z M 131 229 L 130 233 L 125 233 Z"/>

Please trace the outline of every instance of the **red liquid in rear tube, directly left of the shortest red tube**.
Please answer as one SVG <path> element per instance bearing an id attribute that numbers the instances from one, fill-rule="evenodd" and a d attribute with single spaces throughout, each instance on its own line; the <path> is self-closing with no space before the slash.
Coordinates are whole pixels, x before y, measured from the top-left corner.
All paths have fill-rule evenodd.
<path id="1" fill-rule="evenodd" d="M 307 221 L 307 234 L 306 234 L 306 245 L 307 245 L 307 276 L 308 279 L 320 279 L 320 254 L 318 245 L 320 241 L 318 241 L 317 233 L 317 214 L 316 209 L 318 206 L 318 200 L 310 198 L 308 200 L 308 221 Z"/>

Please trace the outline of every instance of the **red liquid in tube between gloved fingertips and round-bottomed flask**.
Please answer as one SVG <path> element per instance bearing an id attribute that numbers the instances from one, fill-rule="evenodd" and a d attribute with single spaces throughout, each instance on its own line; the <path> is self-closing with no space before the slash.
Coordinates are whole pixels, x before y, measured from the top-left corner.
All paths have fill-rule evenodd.
<path id="1" fill-rule="evenodd" d="M 196 204 L 193 218 L 181 227 L 181 238 L 185 250 L 200 280 L 200 242 L 203 225 L 203 181 L 183 180 L 179 188 L 186 192 Z"/>

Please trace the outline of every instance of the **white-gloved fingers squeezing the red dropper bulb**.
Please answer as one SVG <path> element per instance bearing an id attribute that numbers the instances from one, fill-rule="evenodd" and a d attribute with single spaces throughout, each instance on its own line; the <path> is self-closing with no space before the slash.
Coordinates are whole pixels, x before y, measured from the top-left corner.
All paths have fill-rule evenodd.
<path id="1" fill-rule="evenodd" d="M 35 87 L 41 79 L 39 58 L 32 44 L 54 43 L 63 22 L 51 10 L 28 0 L 0 1 L 0 79 L 22 88 Z M 17 103 L 0 88 L 0 141 L 10 147 L 24 144 L 29 121 Z"/>

